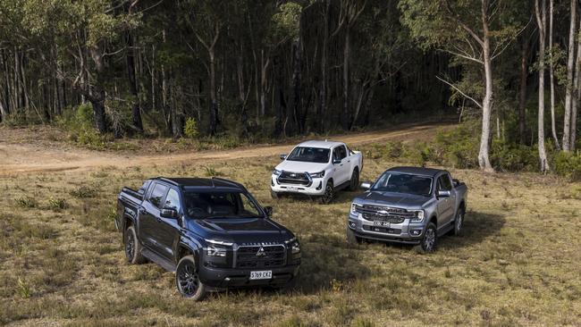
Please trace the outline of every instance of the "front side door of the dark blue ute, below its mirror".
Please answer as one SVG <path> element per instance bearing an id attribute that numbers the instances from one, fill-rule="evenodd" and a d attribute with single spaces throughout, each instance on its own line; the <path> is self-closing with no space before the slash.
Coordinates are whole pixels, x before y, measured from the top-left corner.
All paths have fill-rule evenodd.
<path id="1" fill-rule="evenodd" d="M 157 248 L 160 255 L 167 259 L 173 259 L 173 245 L 180 238 L 180 221 L 183 214 L 181 210 L 180 193 L 176 189 L 169 189 L 162 208 L 171 208 L 178 212 L 177 218 L 160 217 L 157 220 Z"/>

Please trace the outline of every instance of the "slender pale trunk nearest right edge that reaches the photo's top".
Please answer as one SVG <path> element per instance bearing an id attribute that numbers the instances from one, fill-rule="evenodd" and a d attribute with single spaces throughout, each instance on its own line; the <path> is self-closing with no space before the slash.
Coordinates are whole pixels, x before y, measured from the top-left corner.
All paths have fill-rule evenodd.
<path id="1" fill-rule="evenodd" d="M 538 0 L 536 0 L 538 1 Z M 544 1 L 544 0 L 543 0 Z M 544 8 L 543 8 L 544 10 Z M 573 93 L 573 63 L 575 56 L 575 27 L 577 0 L 571 0 L 571 21 L 568 29 L 567 82 L 565 84 L 565 117 L 563 123 L 563 151 L 569 151 L 571 129 L 571 96 Z"/>

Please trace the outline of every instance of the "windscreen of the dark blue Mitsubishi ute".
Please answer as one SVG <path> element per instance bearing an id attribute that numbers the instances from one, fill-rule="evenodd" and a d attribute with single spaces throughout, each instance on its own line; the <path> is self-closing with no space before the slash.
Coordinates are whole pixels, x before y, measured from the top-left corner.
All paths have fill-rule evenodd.
<path id="1" fill-rule="evenodd" d="M 184 193 L 186 213 L 195 219 L 262 217 L 257 205 L 240 192 Z"/>

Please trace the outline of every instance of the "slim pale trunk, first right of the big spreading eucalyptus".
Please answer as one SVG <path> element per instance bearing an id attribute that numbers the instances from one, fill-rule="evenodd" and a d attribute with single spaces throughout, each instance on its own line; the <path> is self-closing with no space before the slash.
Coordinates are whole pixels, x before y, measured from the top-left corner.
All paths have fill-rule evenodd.
<path id="1" fill-rule="evenodd" d="M 544 47 L 545 47 L 545 25 L 546 25 L 546 4 L 542 0 L 543 8 L 539 8 L 539 0 L 535 0 L 536 21 L 539 27 L 539 113 L 538 113 L 538 147 L 541 172 L 549 171 L 547 155 L 544 149 Z M 570 101 L 570 100 L 569 100 Z M 564 147 L 564 145 L 563 145 Z"/>

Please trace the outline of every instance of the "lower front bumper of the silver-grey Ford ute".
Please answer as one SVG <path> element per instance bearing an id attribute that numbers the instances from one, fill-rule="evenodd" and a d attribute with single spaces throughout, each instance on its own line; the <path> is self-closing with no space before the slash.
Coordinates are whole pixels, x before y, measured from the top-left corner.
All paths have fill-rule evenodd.
<path id="1" fill-rule="evenodd" d="M 349 213 L 347 223 L 349 230 L 353 231 L 358 238 L 384 242 L 417 245 L 421 242 L 425 232 L 425 221 L 409 222 L 409 219 L 397 224 L 392 223 L 389 228 L 382 228 L 375 226 L 373 221 L 367 221 L 361 214 Z"/>

